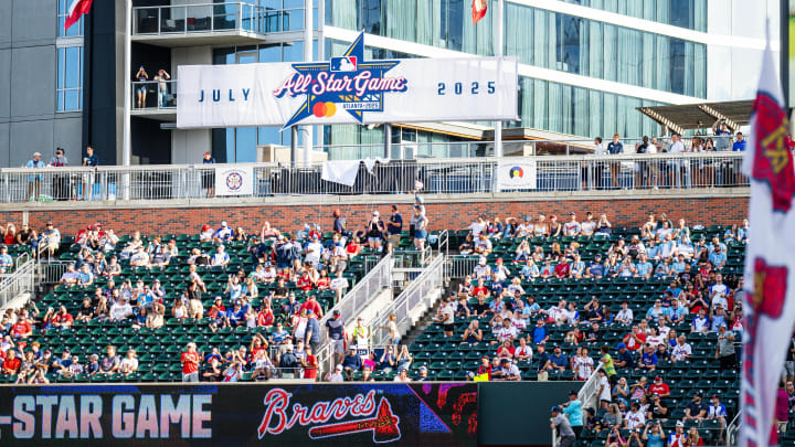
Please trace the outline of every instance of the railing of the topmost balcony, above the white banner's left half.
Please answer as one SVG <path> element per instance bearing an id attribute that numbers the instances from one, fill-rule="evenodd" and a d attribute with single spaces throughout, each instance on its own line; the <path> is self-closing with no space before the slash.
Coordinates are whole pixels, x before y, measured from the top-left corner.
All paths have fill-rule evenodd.
<path id="1" fill-rule="evenodd" d="M 174 35 L 218 31 L 258 34 L 304 30 L 304 8 L 273 9 L 246 2 L 215 2 L 132 9 L 134 35 Z M 312 29 L 318 8 L 312 8 Z"/>

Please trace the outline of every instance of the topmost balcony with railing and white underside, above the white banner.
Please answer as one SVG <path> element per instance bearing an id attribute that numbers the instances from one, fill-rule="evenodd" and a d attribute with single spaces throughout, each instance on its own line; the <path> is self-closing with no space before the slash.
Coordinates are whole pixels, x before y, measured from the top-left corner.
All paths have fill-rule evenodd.
<path id="1" fill-rule="evenodd" d="M 312 10 L 317 29 L 317 8 Z M 159 46 L 244 45 L 301 39 L 304 8 L 269 9 L 244 2 L 140 7 L 132 9 L 132 40 Z M 278 33 L 278 35 L 272 35 Z"/>

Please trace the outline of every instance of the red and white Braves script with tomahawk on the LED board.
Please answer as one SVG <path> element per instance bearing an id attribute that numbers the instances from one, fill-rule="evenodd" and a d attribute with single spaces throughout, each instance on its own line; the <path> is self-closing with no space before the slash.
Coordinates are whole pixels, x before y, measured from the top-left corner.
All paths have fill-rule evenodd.
<path id="1" fill-rule="evenodd" d="M 392 443 L 401 438 L 400 417 L 392 413 L 386 397 L 381 397 L 375 407 L 375 391 L 357 394 L 353 397 L 339 397 L 331 402 L 320 401 L 311 407 L 301 404 L 290 405 L 290 394 L 282 389 L 271 390 L 263 400 L 265 414 L 257 428 L 259 439 L 265 435 L 279 435 L 296 424 L 317 425 L 309 428 L 309 438 L 321 439 L 332 436 L 372 432 L 374 443 Z M 288 414 L 290 408 L 293 414 Z M 342 421 L 349 416 L 359 417 L 328 424 L 329 421 Z"/>

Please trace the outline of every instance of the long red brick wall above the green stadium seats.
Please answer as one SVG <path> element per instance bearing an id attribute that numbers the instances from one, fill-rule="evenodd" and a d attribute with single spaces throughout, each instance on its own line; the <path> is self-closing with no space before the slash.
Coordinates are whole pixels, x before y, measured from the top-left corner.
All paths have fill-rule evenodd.
<path id="1" fill-rule="evenodd" d="M 460 198 L 458 198 L 460 200 Z M 401 212 L 407 221 L 410 204 L 402 203 Z M 263 222 L 269 221 L 272 225 L 282 231 L 296 231 L 303 222 L 316 222 L 326 231 L 330 228 L 332 211 L 339 207 L 347 216 L 349 227 L 362 224 L 373 210 L 382 214 L 390 213 L 389 204 L 285 204 L 230 207 L 141 207 L 115 209 L 30 209 L 28 221 L 35 228 L 43 227 L 47 220 L 52 220 L 63 234 L 75 234 L 78 228 L 94 222 L 102 222 L 117 234 L 129 234 L 140 230 L 144 234 L 159 233 L 197 233 L 202 224 L 208 223 L 214 227 L 226 220 L 231 226 L 242 226 L 248 232 L 258 231 Z M 432 230 L 465 228 L 478 213 L 507 216 L 521 216 L 539 212 L 547 215 L 558 214 L 561 222 L 568 220 L 568 213 L 577 212 L 584 217 L 585 211 L 594 214 L 605 212 L 613 225 L 640 225 L 649 212 L 666 212 L 668 217 L 676 220 L 683 217 L 692 223 L 740 223 L 748 215 L 748 198 L 678 198 L 678 199 L 562 199 L 559 201 L 527 200 L 527 201 L 487 201 L 456 203 L 427 203 L 427 214 Z M 0 211 L 0 223 L 23 221 L 22 211 Z"/>

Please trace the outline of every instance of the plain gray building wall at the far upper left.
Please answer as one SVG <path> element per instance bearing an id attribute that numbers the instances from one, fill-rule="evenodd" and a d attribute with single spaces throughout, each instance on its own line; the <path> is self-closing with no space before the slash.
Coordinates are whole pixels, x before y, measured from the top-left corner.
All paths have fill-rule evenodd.
<path id="1" fill-rule="evenodd" d="M 57 0 L 0 1 L 0 167 L 45 161 L 56 146 L 80 159 L 82 114 L 57 114 Z"/>

